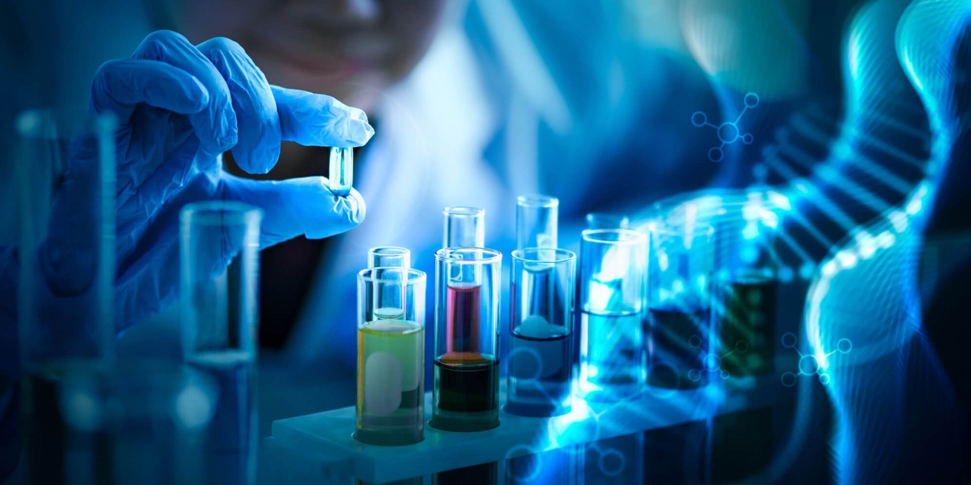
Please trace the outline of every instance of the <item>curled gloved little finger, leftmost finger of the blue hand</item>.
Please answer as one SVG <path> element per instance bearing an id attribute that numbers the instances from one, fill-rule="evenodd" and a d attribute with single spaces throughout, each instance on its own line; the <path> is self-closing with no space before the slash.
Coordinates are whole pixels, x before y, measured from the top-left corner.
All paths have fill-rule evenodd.
<path id="1" fill-rule="evenodd" d="M 117 59 L 98 68 L 91 82 L 92 113 L 115 113 L 124 124 L 139 103 L 173 113 L 199 113 L 209 103 L 209 91 L 191 74 L 164 62 Z"/>

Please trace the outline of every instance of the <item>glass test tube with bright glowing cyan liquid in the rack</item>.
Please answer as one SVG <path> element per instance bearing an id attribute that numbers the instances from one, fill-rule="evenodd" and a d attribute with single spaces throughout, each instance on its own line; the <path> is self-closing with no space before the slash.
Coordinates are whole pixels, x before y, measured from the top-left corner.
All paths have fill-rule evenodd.
<path id="1" fill-rule="evenodd" d="M 580 245 L 581 391 L 594 399 L 640 392 L 644 233 L 587 229 Z"/>

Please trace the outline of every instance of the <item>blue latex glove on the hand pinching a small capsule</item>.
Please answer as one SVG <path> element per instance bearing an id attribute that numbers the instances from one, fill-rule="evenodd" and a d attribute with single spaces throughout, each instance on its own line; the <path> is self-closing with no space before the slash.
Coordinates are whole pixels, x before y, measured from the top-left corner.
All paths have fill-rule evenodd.
<path id="1" fill-rule="evenodd" d="M 251 180 L 222 171 L 221 153 L 229 149 L 243 170 L 265 174 L 277 163 L 281 141 L 362 146 L 374 134 L 360 110 L 329 96 L 269 84 L 231 40 L 192 46 L 175 32 L 152 33 L 131 58 L 101 66 L 89 112 L 114 113 L 118 120 L 117 331 L 177 296 L 178 220 L 186 203 L 223 199 L 262 209 L 261 247 L 299 235 L 326 238 L 364 218 L 360 194 L 352 190 L 338 197 L 326 178 Z M 63 304 L 65 317 L 72 311 L 70 297 L 91 285 L 95 250 L 80 243 L 93 241 L 86 235 L 94 224 L 78 208 L 92 197 L 97 152 L 92 140 L 79 138 L 70 153 L 49 239 L 37 255 L 50 305 Z M 213 254 L 214 267 L 224 265 L 227 256 Z M 16 248 L 0 250 L 0 290 L 16 289 L 17 257 Z M 16 298 L 16 291 L 0 295 L 0 373 L 8 375 L 17 367 Z"/>

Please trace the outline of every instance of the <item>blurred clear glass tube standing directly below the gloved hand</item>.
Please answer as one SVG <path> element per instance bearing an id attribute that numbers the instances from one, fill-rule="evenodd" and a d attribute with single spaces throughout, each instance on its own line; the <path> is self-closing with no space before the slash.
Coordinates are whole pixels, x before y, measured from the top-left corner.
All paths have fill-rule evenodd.
<path id="1" fill-rule="evenodd" d="M 206 453 L 211 482 L 255 480 L 261 218 L 228 201 L 189 204 L 181 214 L 183 355 L 218 389 Z"/>

